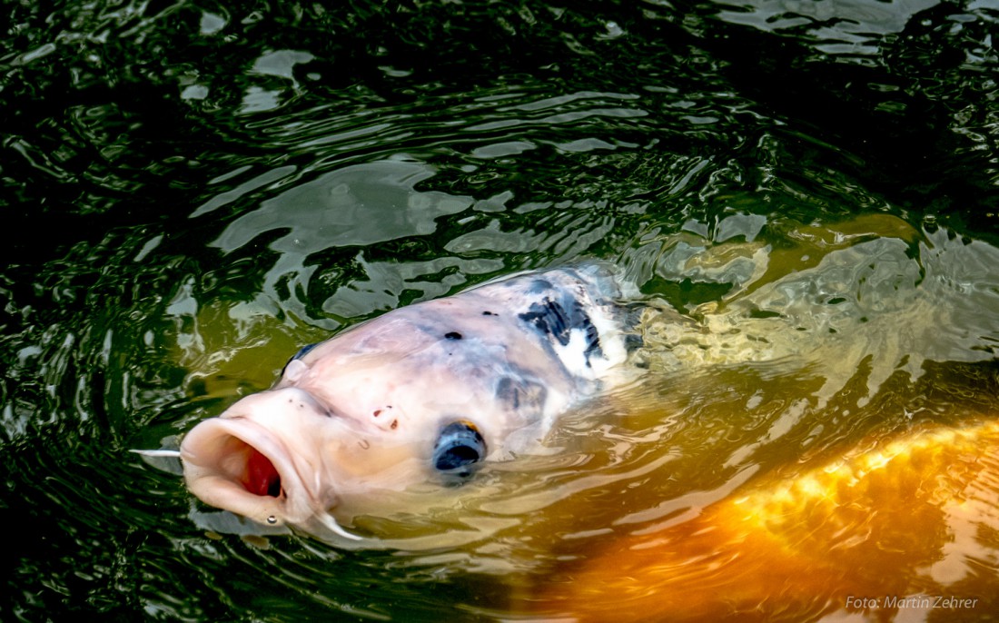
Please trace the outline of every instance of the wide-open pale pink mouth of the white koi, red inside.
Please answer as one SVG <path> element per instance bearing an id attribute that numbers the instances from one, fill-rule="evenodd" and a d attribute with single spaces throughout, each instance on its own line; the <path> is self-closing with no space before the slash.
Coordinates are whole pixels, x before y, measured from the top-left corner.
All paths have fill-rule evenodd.
<path id="1" fill-rule="evenodd" d="M 199 423 L 181 443 L 181 461 L 188 488 L 206 504 L 269 526 L 318 519 L 341 536 L 359 538 L 309 489 L 280 437 L 247 417 Z"/>

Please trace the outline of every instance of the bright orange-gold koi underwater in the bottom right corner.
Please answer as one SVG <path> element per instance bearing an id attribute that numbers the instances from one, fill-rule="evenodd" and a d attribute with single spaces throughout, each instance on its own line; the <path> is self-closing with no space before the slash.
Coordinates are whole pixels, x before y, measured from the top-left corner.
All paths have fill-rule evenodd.
<path id="1" fill-rule="evenodd" d="M 997 452 L 997 422 L 931 426 L 767 476 L 561 564 L 527 608 L 579 621 L 977 619 L 999 559 Z"/>

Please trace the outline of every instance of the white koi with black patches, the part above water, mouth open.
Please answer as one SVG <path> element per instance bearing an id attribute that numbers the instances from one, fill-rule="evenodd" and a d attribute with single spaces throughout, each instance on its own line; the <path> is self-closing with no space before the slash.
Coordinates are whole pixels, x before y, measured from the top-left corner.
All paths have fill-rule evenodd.
<path id="1" fill-rule="evenodd" d="M 265 525 L 357 538 L 335 519 L 345 502 L 530 451 L 624 378 L 617 296 L 595 265 L 522 274 L 306 346 L 273 388 L 187 433 L 187 484 Z"/>

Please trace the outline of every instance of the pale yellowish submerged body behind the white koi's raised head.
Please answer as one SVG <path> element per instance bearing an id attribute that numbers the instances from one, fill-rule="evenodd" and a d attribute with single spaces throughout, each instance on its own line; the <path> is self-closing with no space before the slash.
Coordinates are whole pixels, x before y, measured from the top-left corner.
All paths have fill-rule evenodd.
<path id="1" fill-rule="evenodd" d="M 688 304 L 696 321 L 650 311 L 650 364 L 795 357 L 825 378 L 824 400 L 862 366 L 870 368 L 869 399 L 899 370 L 918 378 L 926 360 L 994 357 L 996 318 L 983 311 L 999 304 L 995 248 L 945 231 L 917 240 L 903 222 L 881 216 L 790 227 L 783 236 L 779 251 L 754 237 L 756 244 L 715 249 L 691 246 L 689 235 L 667 243 L 655 270 L 668 280 L 660 287 L 690 282 L 726 292 Z"/>

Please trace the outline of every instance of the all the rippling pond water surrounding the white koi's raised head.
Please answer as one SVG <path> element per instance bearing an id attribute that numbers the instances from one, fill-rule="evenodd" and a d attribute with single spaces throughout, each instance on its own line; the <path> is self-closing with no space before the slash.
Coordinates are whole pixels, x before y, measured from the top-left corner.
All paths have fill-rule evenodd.
<path id="1" fill-rule="evenodd" d="M 994 0 L 0 6 L 3 620 L 999 613 Z M 373 500 L 379 546 L 129 451 L 587 258 L 646 308 L 640 380 Z"/>

